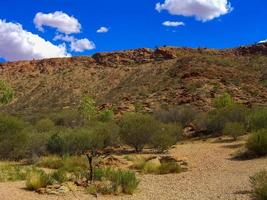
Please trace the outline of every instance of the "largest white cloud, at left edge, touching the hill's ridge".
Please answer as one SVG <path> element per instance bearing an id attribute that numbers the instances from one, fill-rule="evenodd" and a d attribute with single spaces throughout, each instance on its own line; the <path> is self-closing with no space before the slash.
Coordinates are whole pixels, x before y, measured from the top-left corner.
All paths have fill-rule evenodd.
<path id="1" fill-rule="evenodd" d="M 68 57 L 65 45 L 54 45 L 23 29 L 22 25 L 0 19 L 0 57 L 9 61 Z"/>

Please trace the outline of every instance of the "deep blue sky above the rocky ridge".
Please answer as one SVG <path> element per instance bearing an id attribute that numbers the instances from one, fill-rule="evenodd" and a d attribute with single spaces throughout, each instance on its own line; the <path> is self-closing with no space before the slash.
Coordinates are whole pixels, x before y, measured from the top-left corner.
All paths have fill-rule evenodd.
<path id="1" fill-rule="evenodd" d="M 211 0 L 227 2 L 228 11 L 226 13 L 222 13 L 222 10 L 218 11 L 221 12 L 217 13 L 219 16 L 212 16 L 209 19 L 205 13 L 199 14 L 200 11 L 197 9 L 203 7 L 197 7 L 188 14 L 188 10 L 185 12 L 182 10 L 188 7 L 179 8 L 181 0 L 170 1 L 177 7 L 175 13 L 170 11 L 165 0 L 3 0 L 0 6 L 0 20 L 3 20 L 2 24 L 0 23 L 0 30 L 1 26 L 6 26 L 6 23 L 19 23 L 23 26 L 23 30 L 38 34 L 40 38 L 51 42 L 51 45 L 65 43 L 68 56 L 139 47 L 153 48 L 162 45 L 226 48 L 267 39 L 267 1 L 265 0 Z M 162 7 L 160 12 L 155 9 L 157 3 Z M 77 19 L 82 27 L 79 33 L 66 34 L 58 31 L 57 28 L 45 24 L 47 22 L 43 18 L 41 19 L 43 32 L 36 28 L 34 18 L 37 13 L 41 12 L 45 16 L 55 11 L 61 11 Z M 185 25 L 163 26 L 162 23 L 165 21 L 183 22 Z M 100 27 L 106 27 L 108 32 L 97 33 Z M 24 49 L 17 51 L 20 43 L 11 42 L 10 52 L 6 52 L 10 44 L 10 37 L 7 34 L 12 32 L 1 34 L 0 31 L 0 45 L 2 48 L 6 45 L 3 51 L 0 46 L 0 57 L 5 57 L 5 60 L 30 59 L 23 55 L 28 52 L 26 50 L 22 55 L 9 56 L 12 48 L 17 54 Z M 87 39 L 94 43 L 95 47 L 85 45 L 80 49 L 76 45 L 77 48 L 71 49 L 70 40 L 54 40 L 56 35 L 74 38 L 72 41 L 76 42 Z M 12 37 L 11 40 L 13 40 Z M 48 49 L 45 46 L 44 48 Z M 50 56 L 39 52 L 34 52 L 32 55 L 37 59 Z"/>

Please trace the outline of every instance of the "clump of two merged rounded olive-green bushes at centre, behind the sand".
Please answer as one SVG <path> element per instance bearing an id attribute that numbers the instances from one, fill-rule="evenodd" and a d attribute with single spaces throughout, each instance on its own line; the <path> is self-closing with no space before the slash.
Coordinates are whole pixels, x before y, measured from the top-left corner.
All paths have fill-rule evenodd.
<path id="1" fill-rule="evenodd" d="M 136 152 L 151 145 L 158 151 L 164 151 L 177 143 L 182 129 L 176 124 L 163 124 L 153 116 L 138 113 L 127 113 L 120 121 L 121 139 Z"/>

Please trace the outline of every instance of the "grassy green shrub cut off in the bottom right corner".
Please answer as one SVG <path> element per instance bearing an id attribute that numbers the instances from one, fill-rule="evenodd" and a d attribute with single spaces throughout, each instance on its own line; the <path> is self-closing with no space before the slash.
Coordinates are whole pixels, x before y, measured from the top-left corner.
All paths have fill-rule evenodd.
<path id="1" fill-rule="evenodd" d="M 252 197 L 255 200 L 267 199 L 267 171 L 263 170 L 250 177 Z"/>

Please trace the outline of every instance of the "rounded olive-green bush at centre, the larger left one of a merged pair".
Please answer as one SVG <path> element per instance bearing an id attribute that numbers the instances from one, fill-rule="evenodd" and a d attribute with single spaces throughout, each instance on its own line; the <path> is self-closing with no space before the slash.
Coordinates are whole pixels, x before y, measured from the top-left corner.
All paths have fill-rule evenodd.
<path id="1" fill-rule="evenodd" d="M 122 140 L 134 147 L 136 152 L 140 152 L 159 130 L 159 122 L 150 115 L 126 113 L 120 121 L 120 127 Z"/>

